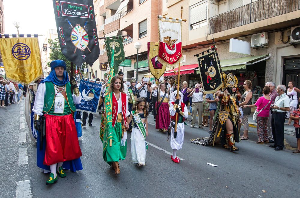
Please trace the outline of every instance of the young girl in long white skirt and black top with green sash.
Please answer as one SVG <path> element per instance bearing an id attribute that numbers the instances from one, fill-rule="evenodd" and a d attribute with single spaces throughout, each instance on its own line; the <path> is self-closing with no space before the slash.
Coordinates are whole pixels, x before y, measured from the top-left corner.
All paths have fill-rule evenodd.
<path id="1" fill-rule="evenodd" d="M 148 106 L 144 98 L 138 98 L 132 107 L 129 120 L 133 120 L 134 125 L 131 132 L 131 161 L 136 163 L 138 167 L 145 166 L 146 150 L 148 144 L 146 136 L 148 136 L 147 111 Z M 129 125 L 129 122 L 128 124 Z"/>

